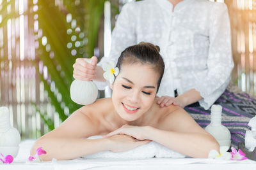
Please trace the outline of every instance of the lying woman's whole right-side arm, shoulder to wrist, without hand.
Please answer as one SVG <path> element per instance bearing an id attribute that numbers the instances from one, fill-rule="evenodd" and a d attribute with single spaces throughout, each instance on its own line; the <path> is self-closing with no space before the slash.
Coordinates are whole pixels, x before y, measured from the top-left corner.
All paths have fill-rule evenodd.
<path id="1" fill-rule="evenodd" d="M 145 128 L 146 139 L 196 158 L 206 158 L 210 150 L 220 149 L 216 139 L 196 124 L 186 111 L 177 106 L 170 107 L 175 111 L 162 118 L 159 128 Z"/>

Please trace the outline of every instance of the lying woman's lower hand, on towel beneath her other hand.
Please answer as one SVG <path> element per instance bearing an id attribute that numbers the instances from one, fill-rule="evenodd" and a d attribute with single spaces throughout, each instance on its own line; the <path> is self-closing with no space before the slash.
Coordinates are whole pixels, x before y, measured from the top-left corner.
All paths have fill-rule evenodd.
<path id="1" fill-rule="evenodd" d="M 106 139 L 109 141 L 108 150 L 111 152 L 124 152 L 150 142 L 150 140 L 140 141 L 125 134 L 116 134 Z"/>

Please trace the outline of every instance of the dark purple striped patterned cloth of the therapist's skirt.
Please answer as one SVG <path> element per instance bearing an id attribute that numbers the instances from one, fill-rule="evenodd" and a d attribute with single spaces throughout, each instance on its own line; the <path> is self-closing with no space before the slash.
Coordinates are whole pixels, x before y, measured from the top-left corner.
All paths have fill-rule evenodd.
<path id="1" fill-rule="evenodd" d="M 250 130 L 248 122 L 256 115 L 256 99 L 230 85 L 214 104 L 223 107 L 221 123 L 231 133 L 231 146 L 237 148 L 238 143 L 244 142 L 245 132 Z M 210 124 L 211 110 L 201 106 L 187 106 L 185 110 L 201 127 Z"/>

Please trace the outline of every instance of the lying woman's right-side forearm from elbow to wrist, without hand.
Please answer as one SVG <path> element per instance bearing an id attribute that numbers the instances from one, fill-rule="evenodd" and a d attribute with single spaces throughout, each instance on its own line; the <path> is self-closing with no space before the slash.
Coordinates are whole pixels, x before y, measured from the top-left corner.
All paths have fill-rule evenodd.
<path id="1" fill-rule="evenodd" d="M 146 139 L 156 141 L 189 157 L 207 158 L 211 150 L 220 150 L 218 143 L 209 134 L 164 131 L 150 126 L 146 129 Z"/>

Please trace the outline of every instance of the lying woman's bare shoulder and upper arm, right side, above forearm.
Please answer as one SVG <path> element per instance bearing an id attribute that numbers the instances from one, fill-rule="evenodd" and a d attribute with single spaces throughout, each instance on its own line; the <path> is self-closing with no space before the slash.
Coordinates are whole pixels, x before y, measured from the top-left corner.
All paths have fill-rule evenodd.
<path id="1" fill-rule="evenodd" d="M 159 118 L 158 128 L 166 131 L 175 132 L 203 132 L 207 133 L 200 127 L 195 120 L 179 106 L 173 104 L 159 109 L 161 117 Z"/>

